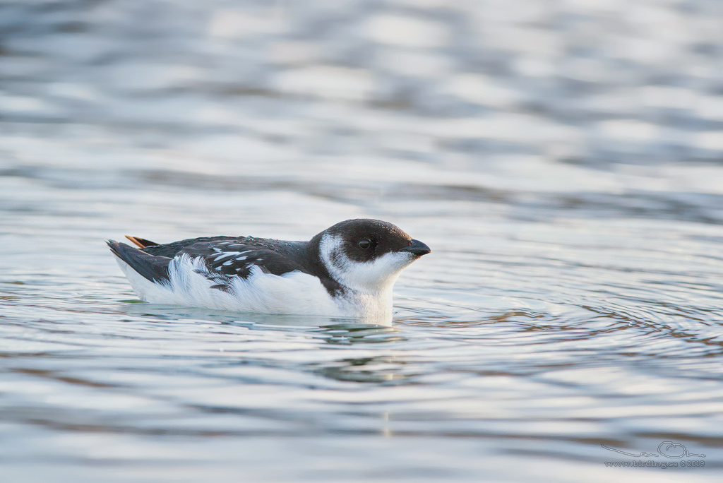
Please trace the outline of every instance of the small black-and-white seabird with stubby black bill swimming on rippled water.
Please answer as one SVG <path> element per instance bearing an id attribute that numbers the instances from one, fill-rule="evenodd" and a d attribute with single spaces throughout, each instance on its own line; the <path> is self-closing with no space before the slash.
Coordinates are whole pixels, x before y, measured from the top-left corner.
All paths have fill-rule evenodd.
<path id="1" fill-rule="evenodd" d="M 157 244 L 108 240 L 146 302 L 267 314 L 390 319 L 401 271 L 431 252 L 392 223 L 342 221 L 309 242 L 210 236 Z"/>

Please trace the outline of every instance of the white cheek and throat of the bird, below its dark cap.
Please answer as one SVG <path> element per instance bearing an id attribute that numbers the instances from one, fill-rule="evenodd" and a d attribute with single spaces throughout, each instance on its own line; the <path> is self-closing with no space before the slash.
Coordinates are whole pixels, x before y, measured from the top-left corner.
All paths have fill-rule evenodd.
<path id="1" fill-rule="evenodd" d="M 372 293 L 390 291 L 399 273 L 415 260 L 409 252 L 390 252 L 369 262 L 355 262 L 344 254 L 341 239 L 329 235 L 322 238 L 320 253 L 336 281 L 348 288 Z"/>

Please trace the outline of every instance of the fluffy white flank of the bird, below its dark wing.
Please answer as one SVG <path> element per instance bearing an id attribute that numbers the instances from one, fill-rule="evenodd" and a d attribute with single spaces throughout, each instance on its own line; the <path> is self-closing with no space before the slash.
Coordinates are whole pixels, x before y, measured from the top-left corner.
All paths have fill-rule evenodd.
<path id="1" fill-rule="evenodd" d="M 122 260 L 119 265 L 146 302 L 267 314 L 353 315 L 333 302 L 317 277 L 298 270 L 272 275 L 253 266 L 248 278 L 228 282 L 231 293 L 227 293 L 210 288 L 215 282 L 194 271 L 208 269 L 202 257 L 181 255 L 171 260 L 166 284 L 148 281 Z"/>

